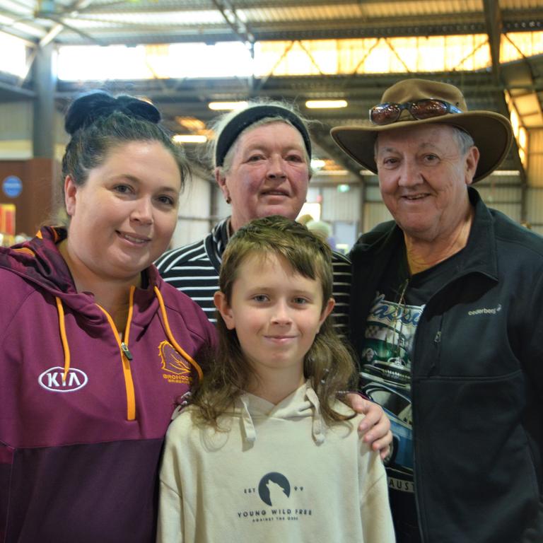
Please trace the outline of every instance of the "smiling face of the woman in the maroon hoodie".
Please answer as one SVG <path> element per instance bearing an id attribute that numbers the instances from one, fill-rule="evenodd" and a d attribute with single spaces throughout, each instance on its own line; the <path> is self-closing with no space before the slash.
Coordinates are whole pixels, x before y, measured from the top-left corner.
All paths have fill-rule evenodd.
<path id="1" fill-rule="evenodd" d="M 134 281 L 170 243 L 181 175 L 158 141 L 112 148 L 82 186 L 64 183 L 71 260 L 98 277 Z"/>

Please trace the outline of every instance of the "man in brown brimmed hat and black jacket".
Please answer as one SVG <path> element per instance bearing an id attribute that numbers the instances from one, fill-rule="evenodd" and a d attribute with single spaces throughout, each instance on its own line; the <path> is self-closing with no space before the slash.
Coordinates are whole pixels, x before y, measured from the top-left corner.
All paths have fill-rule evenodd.
<path id="1" fill-rule="evenodd" d="M 471 187 L 508 119 L 408 79 L 332 137 L 395 219 L 351 252 L 351 338 L 392 420 L 398 542 L 543 542 L 543 239 Z"/>

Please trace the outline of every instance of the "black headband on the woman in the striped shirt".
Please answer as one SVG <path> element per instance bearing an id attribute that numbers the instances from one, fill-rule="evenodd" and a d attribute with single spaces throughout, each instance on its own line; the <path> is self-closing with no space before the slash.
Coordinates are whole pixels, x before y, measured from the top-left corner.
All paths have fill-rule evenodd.
<path id="1" fill-rule="evenodd" d="M 251 124 L 255 124 L 260 119 L 266 119 L 267 117 L 290 122 L 302 134 L 305 149 L 308 151 L 309 158 L 311 158 L 311 140 L 309 139 L 308 129 L 305 128 L 296 113 L 278 105 L 255 105 L 247 107 L 246 110 L 235 115 L 222 129 L 215 148 L 215 164 L 222 166 L 226 153 L 228 153 L 234 141 L 238 139 L 238 136 Z"/>

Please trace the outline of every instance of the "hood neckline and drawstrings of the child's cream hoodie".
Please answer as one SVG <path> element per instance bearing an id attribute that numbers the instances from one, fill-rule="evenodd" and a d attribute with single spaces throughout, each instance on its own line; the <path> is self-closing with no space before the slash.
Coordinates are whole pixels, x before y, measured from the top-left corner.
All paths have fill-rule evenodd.
<path id="1" fill-rule="evenodd" d="M 279 404 L 272 404 L 266 399 L 245 393 L 241 395 L 235 404 L 234 416 L 241 419 L 244 438 L 252 443 L 257 439 L 258 419 L 302 419 L 311 417 L 313 423 L 311 433 L 315 443 L 325 441 L 325 423 L 320 412 L 320 403 L 315 390 L 306 381 Z"/>

